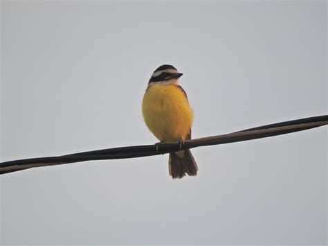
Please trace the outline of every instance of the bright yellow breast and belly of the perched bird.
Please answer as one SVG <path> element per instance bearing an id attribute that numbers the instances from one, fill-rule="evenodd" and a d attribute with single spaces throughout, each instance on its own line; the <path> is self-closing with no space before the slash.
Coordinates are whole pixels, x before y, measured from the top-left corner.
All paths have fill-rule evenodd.
<path id="1" fill-rule="evenodd" d="M 188 138 L 193 112 L 176 85 L 151 85 L 143 96 L 143 118 L 159 141 L 175 143 Z"/>

